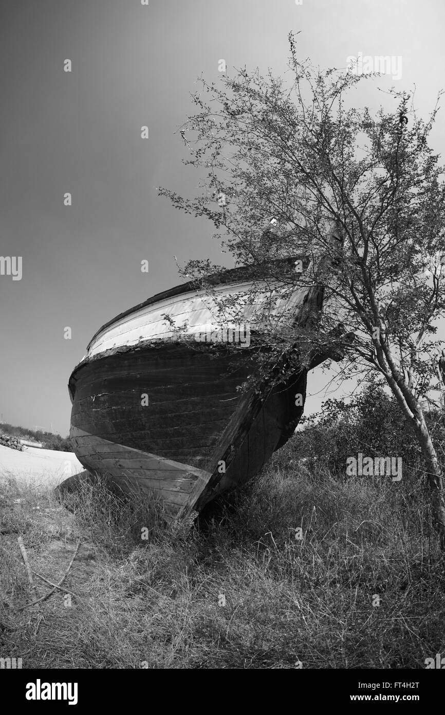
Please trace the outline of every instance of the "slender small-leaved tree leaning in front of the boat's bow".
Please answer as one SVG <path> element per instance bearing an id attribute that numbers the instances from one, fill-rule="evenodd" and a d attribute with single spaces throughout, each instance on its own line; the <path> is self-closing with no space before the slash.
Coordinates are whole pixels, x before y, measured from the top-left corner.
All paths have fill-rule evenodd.
<path id="1" fill-rule="evenodd" d="M 298 344 L 307 367 L 335 345 L 346 355 L 338 380 L 384 378 L 424 456 L 445 546 L 444 473 L 423 408 L 439 386 L 435 335 L 445 308 L 444 169 L 427 143 L 440 95 L 424 121 L 410 94 L 391 89 L 394 111 L 380 107 L 373 118 L 368 107 L 348 109 L 346 97 L 375 73 L 314 69 L 297 59 L 293 34 L 289 44 L 291 82 L 246 69 L 222 87 L 201 80 L 199 111 L 182 135 L 193 157 L 184 163 L 206 169 L 204 190 L 194 199 L 159 192 L 208 217 L 219 239 L 224 231 L 236 265 L 313 259 L 303 275 L 281 277 L 284 286 L 322 286 L 323 314 L 279 337 L 270 325 L 269 358 Z M 209 268 L 194 260 L 184 274 Z"/>

